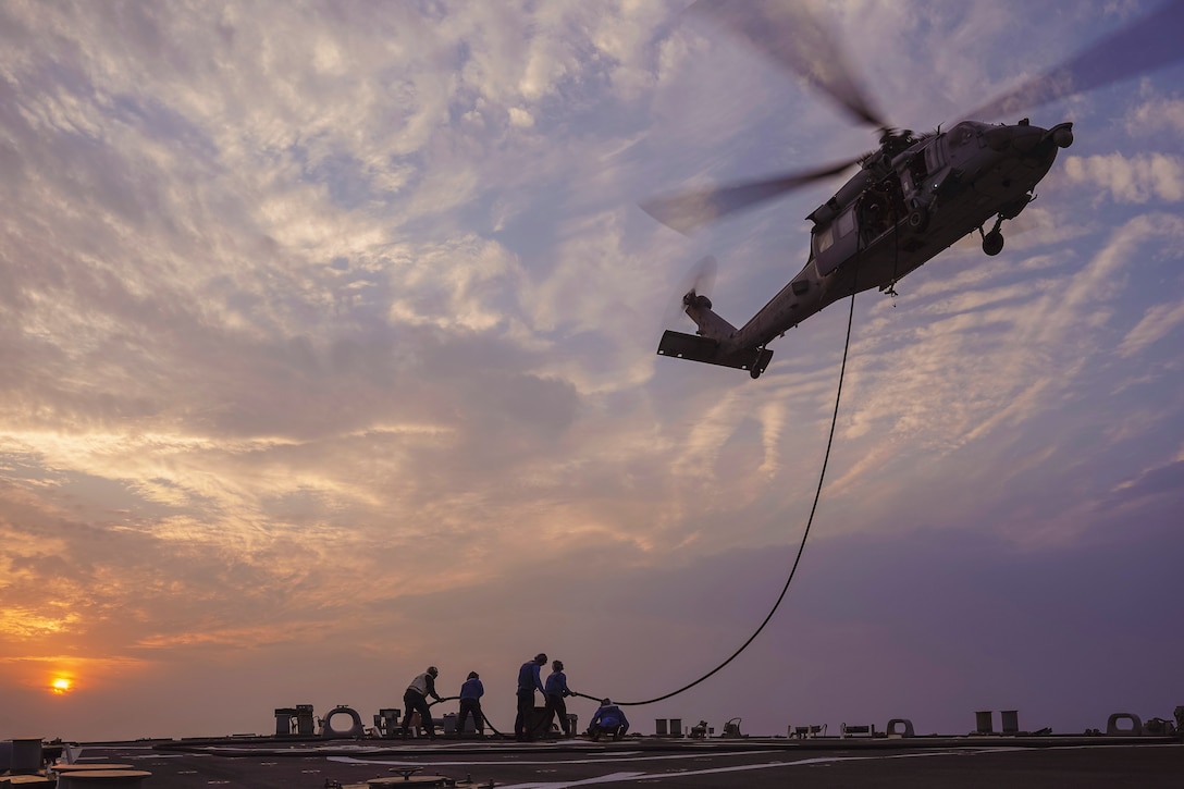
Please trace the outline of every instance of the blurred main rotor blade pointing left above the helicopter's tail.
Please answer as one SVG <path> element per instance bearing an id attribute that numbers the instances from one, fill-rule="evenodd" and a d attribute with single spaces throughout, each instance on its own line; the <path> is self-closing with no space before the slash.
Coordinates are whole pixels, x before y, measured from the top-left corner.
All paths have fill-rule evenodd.
<path id="1" fill-rule="evenodd" d="M 720 217 L 749 209 L 807 184 L 838 175 L 858 161 L 855 159 L 805 173 L 786 173 L 759 181 L 659 197 L 643 203 L 642 210 L 668 227 L 690 235 L 691 231 Z"/>

